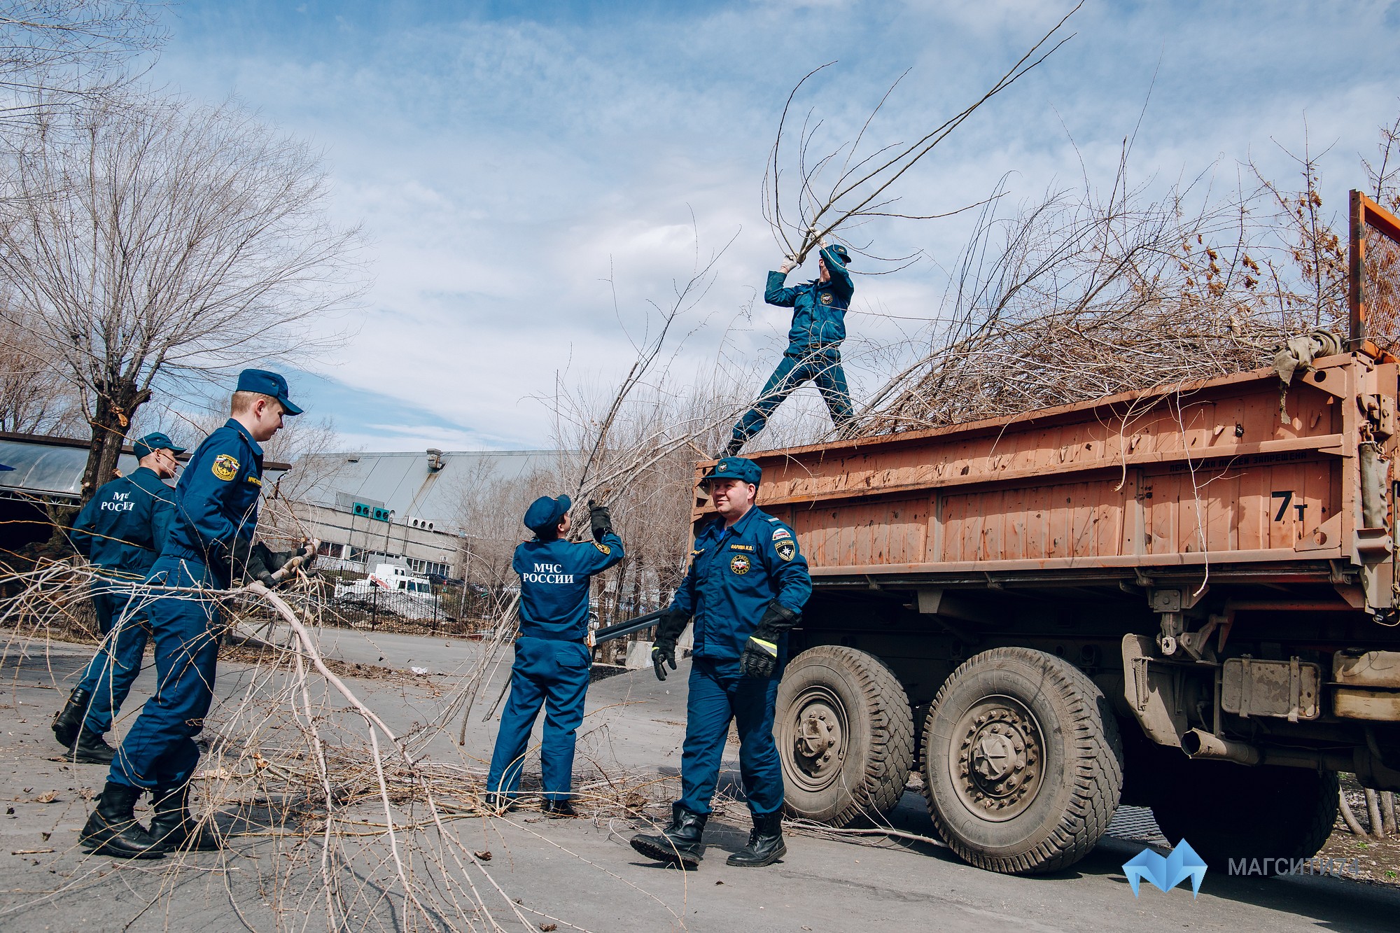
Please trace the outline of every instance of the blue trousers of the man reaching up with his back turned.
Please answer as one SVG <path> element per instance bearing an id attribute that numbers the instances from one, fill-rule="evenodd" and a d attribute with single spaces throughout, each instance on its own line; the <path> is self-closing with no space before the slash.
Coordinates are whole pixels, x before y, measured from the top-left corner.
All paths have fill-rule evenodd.
<path id="1" fill-rule="evenodd" d="M 514 796 L 521 786 L 529 733 L 545 705 L 545 744 L 540 748 L 545 799 L 567 799 L 574 783 L 574 738 L 584 721 L 591 657 L 582 642 L 554 642 L 521 636 L 511 667 L 511 695 L 496 734 L 486 789 Z M 546 702 L 547 700 L 547 702 Z"/>

